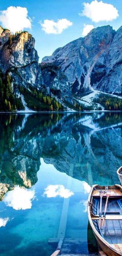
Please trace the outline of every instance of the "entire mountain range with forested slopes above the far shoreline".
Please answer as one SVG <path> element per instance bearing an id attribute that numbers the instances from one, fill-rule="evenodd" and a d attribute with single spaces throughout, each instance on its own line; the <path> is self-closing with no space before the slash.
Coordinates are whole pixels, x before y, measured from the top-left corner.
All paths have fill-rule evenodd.
<path id="1" fill-rule="evenodd" d="M 0 111 L 121 110 L 121 33 L 97 27 L 39 64 L 31 34 L 0 26 Z"/>

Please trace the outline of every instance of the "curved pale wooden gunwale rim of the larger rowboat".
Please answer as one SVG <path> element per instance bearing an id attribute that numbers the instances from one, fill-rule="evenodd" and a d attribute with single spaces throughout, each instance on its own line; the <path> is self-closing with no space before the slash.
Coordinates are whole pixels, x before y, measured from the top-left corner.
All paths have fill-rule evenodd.
<path id="1" fill-rule="evenodd" d="M 93 224 L 93 221 L 92 221 L 92 219 L 91 219 L 91 213 L 90 213 L 90 212 L 91 212 L 91 211 L 90 211 L 91 205 L 89 205 L 89 203 L 91 202 L 91 196 L 92 196 L 93 190 L 94 190 L 94 188 L 97 187 L 97 186 L 99 186 L 99 187 L 104 187 L 104 186 L 100 186 L 100 185 L 98 185 L 98 184 L 93 185 L 93 186 L 91 187 L 91 191 L 90 191 L 90 193 L 89 193 L 88 201 L 87 201 L 87 213 L 88 213 L 88 219 L 89 219 L 91 228 L 92 228 L 92 230 L 93 230 L 94 235 L 97 236 L 98 239 L 102 241 L 102 243 L 104 243 L 107 247 L 109 247 L 109 249 L 112 250 L 113 252 L 115 252 L 115 253 L 117 253 L 117 254 L 119 254 L 119 255 L 122 256 L 122 253 L 120 253 L 119 251 L 117 251 L 117 250 L 115 250 L 113 247 L 111 247 L 111 244 L 108 243 L 108 242 L 98 233 L 98 231 L 95 229 L 94 224 Z M 108 187 L 112 187 L 112 186 L 117 186 L 118 188 L 122 189 L 122 186 L 117 185 L 117 184 L 111 185 L 111 186 L 108 186 Z"/>

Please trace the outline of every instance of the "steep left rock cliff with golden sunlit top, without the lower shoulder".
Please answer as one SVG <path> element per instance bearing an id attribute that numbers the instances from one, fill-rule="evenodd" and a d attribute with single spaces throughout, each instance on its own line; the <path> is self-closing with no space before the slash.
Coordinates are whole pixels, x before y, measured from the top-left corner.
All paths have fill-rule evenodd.
<path id="1" fill-rule="evenodd" d="M 26 31 L 12 37 L 8 30 L 0 29 L 0 68 L 5 74 L 10 72 L 13 85 L 28 85 L 40 88 L 43 83 L 38 66 L 35 39 Z"/>

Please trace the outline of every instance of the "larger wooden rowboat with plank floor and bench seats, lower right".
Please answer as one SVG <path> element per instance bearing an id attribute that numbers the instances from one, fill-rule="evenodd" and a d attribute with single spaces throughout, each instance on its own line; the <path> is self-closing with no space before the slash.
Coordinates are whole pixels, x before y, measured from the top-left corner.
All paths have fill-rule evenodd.
<path id="1" fill-rule="evenodd" d="M 110 193 L 103 230 L 99 229 L 100 190 L 104 191 L 101 223 L 107 191 Z M 87 211 L 91 228 L 102 250 L 109 256 L 122 256 L 122 186 L 93 185 L 88 197 Z"/>

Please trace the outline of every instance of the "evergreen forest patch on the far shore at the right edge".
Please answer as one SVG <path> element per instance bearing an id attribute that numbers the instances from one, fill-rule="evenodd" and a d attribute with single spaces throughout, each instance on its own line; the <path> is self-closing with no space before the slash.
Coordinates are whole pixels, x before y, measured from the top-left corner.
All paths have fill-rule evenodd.
<path id="1" fill-rule="evenodd" d="M 102 95 L 94 101 L 104 106 L 105 110 L 122 110 L 122 99 L 117 97 Z"/>

